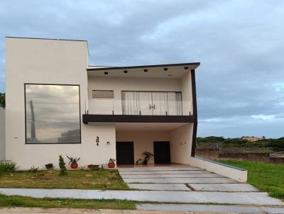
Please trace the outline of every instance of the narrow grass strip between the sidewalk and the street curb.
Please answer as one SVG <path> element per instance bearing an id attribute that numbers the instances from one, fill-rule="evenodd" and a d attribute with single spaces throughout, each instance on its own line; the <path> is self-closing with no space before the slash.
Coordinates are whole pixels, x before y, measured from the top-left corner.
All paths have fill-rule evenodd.
<path id="1" fill-rule="evenodd" d="M 0 194 L 0 207 L 24 208 L 88 208 L 88 209 L 116 209 L 134 210 L 133 201 L 94 200 L 71 198 L 32 198 L 26 196 L 4 196 Z"/>

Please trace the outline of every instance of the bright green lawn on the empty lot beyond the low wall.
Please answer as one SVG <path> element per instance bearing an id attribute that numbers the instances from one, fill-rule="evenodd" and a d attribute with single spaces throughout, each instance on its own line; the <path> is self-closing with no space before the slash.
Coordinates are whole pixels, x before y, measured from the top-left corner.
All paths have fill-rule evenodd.
<path id="1" fill-rule="evenodd" d="M 248 170 L 248 183 L 270 196 L 284 200 L 284 164 L 249 162 L 237 160 L 220 160 L 224 164 Z"/>

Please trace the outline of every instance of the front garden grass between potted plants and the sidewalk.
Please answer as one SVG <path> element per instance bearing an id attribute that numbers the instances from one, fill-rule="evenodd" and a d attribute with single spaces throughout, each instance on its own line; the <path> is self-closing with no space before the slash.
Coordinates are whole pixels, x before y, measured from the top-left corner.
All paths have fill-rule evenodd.
<path id="1" fill-rule="evenodd" d="M 0 188 L 129 189 L 117 170 L 69 170 L 67 176 L 60 176 L 55 170 L 5 172 L 0 175 Z"/>

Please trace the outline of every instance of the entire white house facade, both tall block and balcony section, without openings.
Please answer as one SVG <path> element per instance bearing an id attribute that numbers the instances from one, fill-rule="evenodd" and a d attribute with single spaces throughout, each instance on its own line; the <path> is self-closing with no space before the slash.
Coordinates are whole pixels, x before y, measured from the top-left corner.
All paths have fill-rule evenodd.
<path id="1" fill-rule="evenodd" d="M 48 163 L 58 167 L 59 154 L 81 157 L 81 166 L 106 164 L 110 158 L 116 159 L 116 142 L 133 142 L 136 162 L 143 158 L 142 152 L 154 152 L 153 142 L 165 141 L 170 142 L 170 162 L 190 164 L 197 122 L 191 70 L 199 64 L 112 69 L 89 67 L 88 58 L 87 41 L 6 38 L 6 159 L 17 162 L 21 169 L 33 165 L 44 168 Z M 80 143 L 26 143 L 29 118 L 25 112 L 25 84 L 80 86 Z M 92 98 L 93 90 L 114 91 L 114 98 Z M 121 91 L 181 93 L 182 112 L 177 117 L 165 111 L 143 118 L 140 110 L 141 116 L 124 116 Z M 175 102 L 167 99 L 165 106 L 169 109 Z M 155 112 L 165 108 L 153 105 L 150 109 L 155 108 Z M 89 118 L 92 115 L 98 115 L 93 117 L 96 120 Z M 87 118 L 84 121 L 83 116 Z M 154 164 L 153 158 L 149 164 Z"/>

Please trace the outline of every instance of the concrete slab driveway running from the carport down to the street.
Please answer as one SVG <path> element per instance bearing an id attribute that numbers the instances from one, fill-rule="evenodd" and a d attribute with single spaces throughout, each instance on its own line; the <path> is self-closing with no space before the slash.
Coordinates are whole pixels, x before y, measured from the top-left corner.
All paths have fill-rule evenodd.
<path id="1" fill-rule="evenodd" d="M 141 192 L 160 191 L 156 200 L 234 205 L 200 204 L 138 204 L 138 210 L 176 210 L 216 213 L 284 213 L 284 203 L 271 198 L 250 184 L 237 181 L 197 167 L 135 167 L 120 168 L 119 174 L 130 188 Z M 264 197 L 264 198 L 263 198 Z M 168 198 L 168 199 L 165 199 Z M 174 199 L 176 198 L 176 199 Z M 200 200 L 201 199 L 201 200 Z M 257 206 L 256 206 L 257 205 Z M 270 206 L 268 206 L 270 205 Z M 272 206 L 271 206 L 272 205 Z"/>

